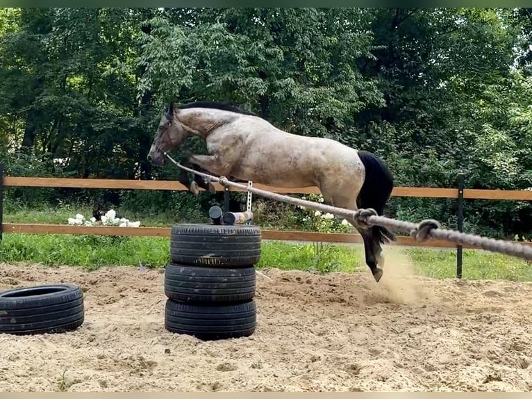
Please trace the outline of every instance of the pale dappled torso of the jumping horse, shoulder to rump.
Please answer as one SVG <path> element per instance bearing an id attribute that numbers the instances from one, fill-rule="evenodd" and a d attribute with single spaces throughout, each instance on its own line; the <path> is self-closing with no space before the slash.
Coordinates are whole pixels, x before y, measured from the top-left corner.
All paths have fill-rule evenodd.
<path id="1" fill-rule="evenodd" d="M 319 186 L 324 179 L 348 179 L 363 171 L 356 149 L 329 138 L 300 136 L 258 117 L 241 117 L 226 127 L 239 142 L 233 176 L 278 187 Z M 231 139 L 230 139 L 231 138 Z"/>

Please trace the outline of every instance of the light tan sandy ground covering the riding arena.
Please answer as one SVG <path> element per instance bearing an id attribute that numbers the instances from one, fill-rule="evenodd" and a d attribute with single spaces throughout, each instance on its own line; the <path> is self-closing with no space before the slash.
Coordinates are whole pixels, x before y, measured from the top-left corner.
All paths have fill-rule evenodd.
<path id="1" fill-rule="evenodd" d="M 368 273 L 257 276 L 249 338 L 164 328 L 162 272 L 0 265 L 0 290 L 74 282 L 85 323 L 0 335 L 0 391 L 531 391 L 532 284 Z"/>

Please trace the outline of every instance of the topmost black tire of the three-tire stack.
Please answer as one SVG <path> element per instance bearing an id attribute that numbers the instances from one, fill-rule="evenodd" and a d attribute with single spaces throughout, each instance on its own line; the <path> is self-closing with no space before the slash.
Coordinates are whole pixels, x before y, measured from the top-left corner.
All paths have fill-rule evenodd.
<path id="1" fill-rule="evenodd" d="M 260 241 L 260 228 L 253 225 L 174 225 L 170 259 L 189 266 L 249 267 L 260 259 Z"/>

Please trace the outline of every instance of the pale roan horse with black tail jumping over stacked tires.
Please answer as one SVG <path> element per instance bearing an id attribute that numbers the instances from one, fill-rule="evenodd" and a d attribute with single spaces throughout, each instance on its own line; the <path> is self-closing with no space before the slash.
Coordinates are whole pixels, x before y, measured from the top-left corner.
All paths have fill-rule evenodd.
<path id="1" fill-rule="evenodd" d="M 392 174 L 375 154 L 329 138 L 288 133 L 236 106 L 210 101 L 178 107 L 172 101 L 160 118 L 147 160 L 163 165 L 165 153 L 189 136 L 205 140 L 208 155 L 193 154 L 188 165 L 218 177 L 283 188 L 317 186 L 326 204 L 354 211 L 373 208 L 379 215 L 392 193 Z M 179 181 L 194 194 L 198 187 L 214 190 L 197 175 L 191 182 L 183 173 Z M 397 238 L 385 227 L 350 222 L 363 238 L 366 264 L 379 282 L 381 243 Z"/>

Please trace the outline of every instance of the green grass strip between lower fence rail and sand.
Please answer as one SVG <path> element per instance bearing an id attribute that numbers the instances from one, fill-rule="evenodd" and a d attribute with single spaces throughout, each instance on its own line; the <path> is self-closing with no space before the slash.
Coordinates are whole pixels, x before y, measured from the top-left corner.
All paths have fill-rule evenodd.
<path id="1" fill-rule="evenodd" d="M 385 247 L 385 270 L 408 265 L 414 274 L 437 279 L 456 275 L 456 252 L 429 248 Z M 160 237 L 69 236 L 60 234 L 4 234 L 0 244 L 4 262 L 45 266 L 101 266 L 163 268 L 169 261 L 169 239 Z M 367 272 L 360 246 L 290 244 L 265 241 L 258 268 L 314 272 Z M 532 265 L 502 254 L 465 250 L 463 277 L 532 281 Z"/>

